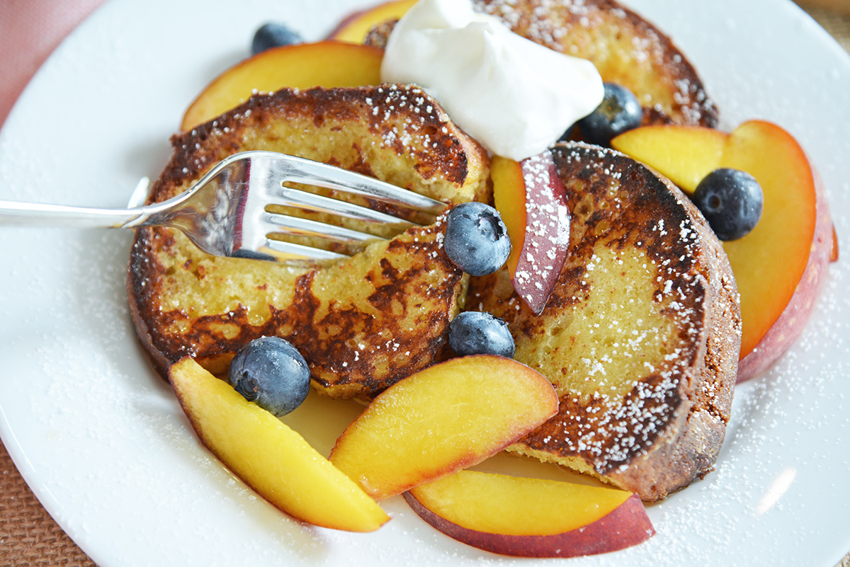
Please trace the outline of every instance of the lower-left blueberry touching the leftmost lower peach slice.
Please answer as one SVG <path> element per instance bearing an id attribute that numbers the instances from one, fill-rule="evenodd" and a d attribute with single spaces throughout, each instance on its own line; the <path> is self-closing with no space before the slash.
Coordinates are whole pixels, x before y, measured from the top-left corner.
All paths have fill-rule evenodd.
<path id="1" fill-rule="evenodd" d="M 242 347 L 227 377 L 247 401 L 277 417 L 300 406 L 310 389 L 307 361 L 280 337 L 260 337 Z"/>

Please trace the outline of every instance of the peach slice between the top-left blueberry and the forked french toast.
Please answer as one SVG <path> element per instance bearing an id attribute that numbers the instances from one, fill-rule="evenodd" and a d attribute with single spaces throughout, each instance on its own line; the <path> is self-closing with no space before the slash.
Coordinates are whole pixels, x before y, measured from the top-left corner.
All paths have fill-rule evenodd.
<path id="1" fill-rule="evenodd" d="M 283 87 L 362 87 L 381 82 L 383 50 L 344 42 L 286 45 L 225 70 L 195 98 L 180 128 L 187 132 L 244 103 L 252 93 Z"/>

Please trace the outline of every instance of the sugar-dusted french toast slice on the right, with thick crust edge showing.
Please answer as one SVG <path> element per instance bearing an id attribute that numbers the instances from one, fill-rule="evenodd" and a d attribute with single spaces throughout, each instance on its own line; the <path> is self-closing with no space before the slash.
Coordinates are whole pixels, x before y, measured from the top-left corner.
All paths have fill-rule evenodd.
<path id="1" fill-rule="evenodd" d="M 515 358 L 558 390 L 558 414 L 509 451 L 646 501 L 713 469 L 729 418 L 740 306 L 723 248 L 671 182 L 586 143 L 553 149 L 569 255 L 540 316 L 507 270 L 472 278 L 467 309 L 503 318 Z"/>

